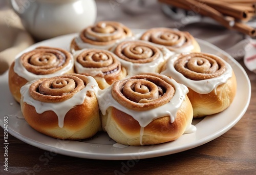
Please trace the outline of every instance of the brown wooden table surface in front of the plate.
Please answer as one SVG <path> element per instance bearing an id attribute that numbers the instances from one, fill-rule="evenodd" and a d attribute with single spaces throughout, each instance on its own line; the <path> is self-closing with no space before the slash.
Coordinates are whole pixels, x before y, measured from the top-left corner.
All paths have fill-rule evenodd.
<path id="1" fill-rule="evenodd" d="M 104 161 L 55 155 L 9 135 L 7 173 L 1 128 L 0 174 L 256 174 L 256 74 L 245 70 L 252 88 L 248 110 L 228 132 L 202 146 L 151 159 Z"/>

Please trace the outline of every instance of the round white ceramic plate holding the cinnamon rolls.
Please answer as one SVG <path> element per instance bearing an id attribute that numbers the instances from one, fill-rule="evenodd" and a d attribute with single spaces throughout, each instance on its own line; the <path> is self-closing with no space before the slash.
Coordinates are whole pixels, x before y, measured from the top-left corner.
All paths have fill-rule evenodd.
<path id="1" fill-rule="evenodd" d="M 24 52 L 37 46 L 68 49 L 69 43 L 75 35 L 70 34 L 45 40 L 36 43 Z M 198 39 L 198 42 L 202 52 L 222 56 L 231 64 L 237 77 L 237 92 L 239 93 L 237 93 L 233 103 L 225 111 L 204 119 L 193 120 L 193 124 L 197 127 L 196 133 L 182 135 L 178 140 L 169 143 L 123 148 L 114 147 L 113 144 L 115 142 L 106 133 L 98 133 L 92 139 L 83 141 L 54 139 L 36 132 L 22 119 L 20 106 L 9 92 L 8 73 L 0 76 L 0 125 L 4 126 L 4 116 L 8 116 L 8 132 L 17 139 L 58 154 L 88 159 L 129 160 L 153 158 L 174 154 L 205 144 L 227 132 L 242 118 L 249 105 L 251 86 L 247 74 L 236 60 L 208 42 L 200 39 Z"/>

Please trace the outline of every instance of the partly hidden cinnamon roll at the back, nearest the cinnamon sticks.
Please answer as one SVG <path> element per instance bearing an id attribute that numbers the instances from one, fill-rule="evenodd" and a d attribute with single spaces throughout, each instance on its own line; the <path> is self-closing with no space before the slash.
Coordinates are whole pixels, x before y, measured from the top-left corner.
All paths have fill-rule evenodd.
<path id="1" fill-rule="evenodd" d="M 152 28 L 144 32 L 140 39 L 163 45 L 176 53 L 201 51 L 198 42 L 192 35 L 177 29 Z"/>

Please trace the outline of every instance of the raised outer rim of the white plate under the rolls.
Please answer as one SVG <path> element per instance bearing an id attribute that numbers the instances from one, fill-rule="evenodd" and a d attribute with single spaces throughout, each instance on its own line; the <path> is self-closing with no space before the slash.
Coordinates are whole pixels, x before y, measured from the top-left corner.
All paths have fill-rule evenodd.
<path id="1" fill-rule="evenodd" d="M 29 50 L 33 47 L 39 46 L 44 42 L 50 42 L 50 41 L 54 41 L 54 40 L 57 40 L 57 39 L 62 39 L 63 37 L 73 37 L 75 35 L 77 35 L 77 33 L 62 35 L 62 36 L 58 36 L 58 37 L 51 38 L 51 39 L 48 39 L 48 40 L 37 42 L 34 45 L 27 48 L 26 50 L 20 52 L 18 55 L 26 52 L 27 50 Z M 237 62 L 237 60 L 232 58 L 229 54 L 227 54 L 225 51 L 221 50 L 217 46 L 212 45 L 211 43 L 209 43 L 207 41 L 204 41 L 202 39 L 196 38 L 196 40 L 199 43 L 201 43 L 201 44 L 203 44 L 207 47 L 210 47 L 212 49 L 215 49 L 215 50 L 219 51 L 220 53 L 224 54 L 225 56 L 227 56 L 234 64 L 236 64 L 238 69 L 240 71 L 242 71 L 243 76 L 245 77 L 245 80 L 248 83 L 248 99 L 246 101 L 245 107 L 240 112 L 240 115 L 238 117 L 236 117 L 235 120 L 233 120 L 232 122 L 229 122 L 229 124 L 226 127 L 217 130 L 216 132 L 212 133 L 211 135 L 208 135 L 207 137 L 203 137 L 203 138 L 197 140 L 196 142 L 192 142 L 192 143 L 189 143 L 189 144 L 184 144 L 182 146 L 178 146 L 174 150 L 171 150 L 171 151 L 168 148 L 157 149 L 157 150 L 149 150 L 149 151 L 145 152 L 146 154 L 141 154 L 141 155 L 139 154 L 139 156 L 140 156 L 139 159 L 154 158 L 154 157 L 159 157 L 159 156 L 175 154 L 177 152 L 181 152 L 181 151 L 184 151 L 184 150 L 195 148 L 195 147 L 201 146 L 205 143 L 208 143 L 209 141 L 212 141 L 212 140 L 220 137 L 224 133 L 226 133 L 230 128 L 232 128 L 244 116 L 245 112 L 247 111 L 247 108 L 248 108 L 249 103 L 250 103 L 250 98 L 251 98 L 251 84 L 250 84 L 249 77 L 248 77 L 247 73 L 245 72 L 244 68 L 242 67 L 242 65 L 240 65 Z M 8 74 L 8 71 L 6 73 L 4 73 L 3 75 L 1 75 L 0 78 L 3 77 L 3 76 L 6 76 L 6 74 Z M 0 118 L 0 125 L 1 125 L 2 128 L 4 128 L 3 121 L 2 121 L 1 118 Z M 88 152 L 87 152 L 87 154 L 85 154 L 85 152 L 81 152 L 81 151 L 74 151 L 74 150 L 63 149 L 63 148 L 60 149 L 60 148 L 56 148 L 52 145 L 47 145 L 46 143 L 39 143 L 39 142 L 37 142 L 37 141 L 35 141 L 31 138 L 20 135 L 18 132 L 16 132 L 15 130 L 12 130 L 10 128 L 8 129 L 8 133 L 10 133 L 15 138 L 17 138 L 19 140 L 22 140 L 23 142 L 25 142 L 27 144 L 30 144 L 32 146 L 35 146 L 35 147 L 38 147 L 38 148 L 41 148 L 41 149 L 44 149 L 44 150 L 48 150 L 48 151 L 51 151 L 54 148 L 54 149 L 57 149 L 58 154 L 66 155 L 66 156 L 72 156 L 72 157 L 78 157 L 78 158 L 87 158 L 87 159 L 97 159 L 97 160 L 131 160 L 131 159 L 134 159 L 134 157 L 138 156 L 138 152 L 133 152 L 133 153 L 126 152 L 126 153 L 115 154 L 115 155 L 113 155 L 111 153 L 99 155 L 97 153 L 92 153 L 92 152 L 90 154 L 88 154 Z M 50 138 L 50 139 L 54 139 L 54 138 Z M 168 144 L 168 143 L 163 143 L 163 144 Z M 143 146 L 143 147 L 150 147 L 150 146 Z M 83 153 L 83 154 L 81 154 L 81 153 Z"/>

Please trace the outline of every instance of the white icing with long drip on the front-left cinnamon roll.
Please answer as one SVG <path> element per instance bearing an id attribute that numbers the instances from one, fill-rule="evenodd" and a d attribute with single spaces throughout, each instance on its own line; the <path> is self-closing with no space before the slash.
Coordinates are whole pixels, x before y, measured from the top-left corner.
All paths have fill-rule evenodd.
<path id="1" fill-rule="evenodd" d="M 71 110 L 71 108 L 75 107 L 76 105 L 82 104 L 84 99 L 86 98 L 87 92 L 98 92 L 99 88 L 95 79 L 90 76 L 88 76 L 88 79 L 89 81 L 86 87 L 74 94 L 74 96 L 70 99 L 58 103 L 45 103 L 33 99 L 29 94 L 29 87 L 34 81 L 22 86 L 22 88 L 20 89 L 20 94 L 22 94 L 24 102 L 35 107 L 35 110 L 38 114 L 42 114 L 46 111 L 53 111 L 58 116 L 59 127 L 63 127 L 65 115 Z"/>

